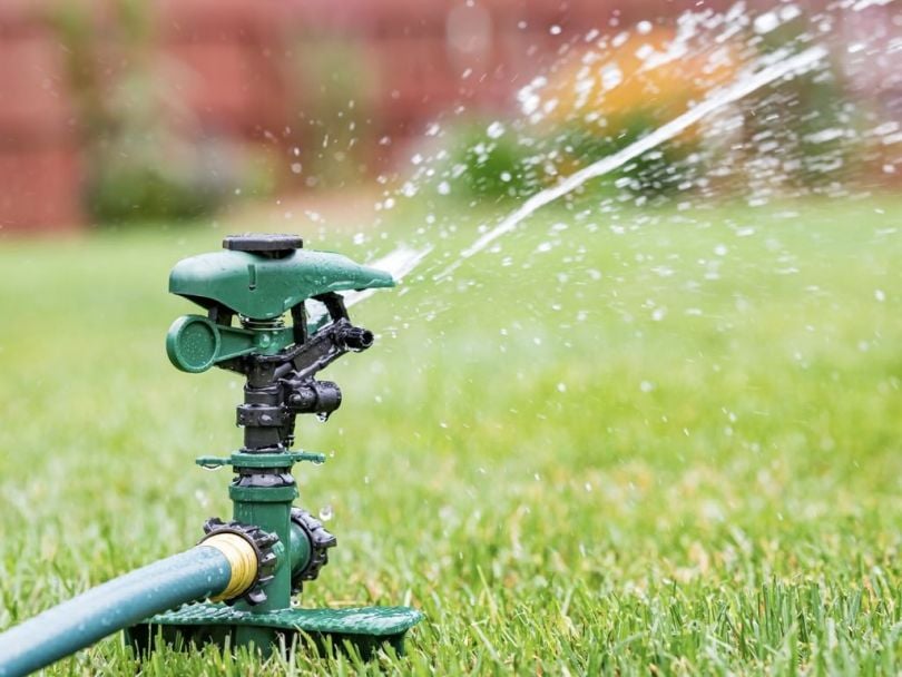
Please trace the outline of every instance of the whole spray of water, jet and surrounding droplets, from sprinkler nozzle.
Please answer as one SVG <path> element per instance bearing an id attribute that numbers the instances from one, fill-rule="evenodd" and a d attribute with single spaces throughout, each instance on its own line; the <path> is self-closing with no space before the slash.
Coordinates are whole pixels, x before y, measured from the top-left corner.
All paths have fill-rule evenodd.
<path id="1" fill-rule="evenodd" d="M 886 3 L 844 0 L 813 13 L 805 13 L 793 3 L 781 3 L 755 13 L 737 2 L 723 13 L 686 12 L 671 24 L 673 35 L 665 42 L 653 39 L 651 27 L 664 26 L 655 21 L 615 29 L 607 36 L 599 30 L 575 36 L 567 46 L 569 51 L 561 51 L 560 62 L 521 89 L 518 96 L 521 115 L 486 124 L 482 138 L 472 141 L 471 157 L 477 158 L 473 160 L 477 167 L 500 144 L 513 145 L 523 154 L 521 168 L 527 180 L 516 187 L 510 184 L 504 203 L 509 205 L 513 198 L 518 204 L 493 223 L 488 223 L 483 216 L 474 239 L 461 247 L 455 234 L 469 226 L 463 226 L 460 219 L 478 217 L 478 209 L 498 200 L 468 194 L 464 179 L 471 166 L 464 166 L 460 155 L 454 155 L 453 144 L 459 143 L 453 131 L 457 122 L 444 117 L 428 126 L 422 145 L 411 155 L 411 173 L 400 177 L 396 187 L 386 188 L 384 199 L 375 204 L 376 212 L 381 213 L 375 227 L 359 233 L 355 242 L 372 243 L 370 265 L 392 273 L 398 279 L 416 273 L 416 283 L 429 284 L 450 282 L 467 259 L 486 251 L 499 251 L 499 242 L 504 236 L 521 229 L 524 220 L 556 200 L 563 203 L 572 217 L 563 217 L 563 223 L 552 226 L 549 242 L 536 247 L 536 253 L 548 252 L 556 243 L 563 243 L 567 237 L 563 230 L 577 223 L 594 232 L 599 227 L 594 223 L 597 220 L 618 233 L 655 220 L 655 210 L 648 209 L 630 213 L 628 224 L 617 225 L 618 218 L 627 214 L 621 208 L 629 206 L 669 204 L 676 207 L 671 212 L 679 212 L 695 198 L 705 205 L 723 198 L 739 198 L 755 208 L 804 195 L 865 196 L 866 183 L 852 183 L 861 176 L 857 169 L 862 156 L 870 154 L 872 168 L 874 163 L 880 167 L 881 157 L 889 158 L 884 160 L 883 173 L 892 175 L 899 165 L 893 159 L 898 156 L 893 149 L 902 140 L 899 122 L 882 117 L 885 110 L 859 106 L 854 99 L 859 95 L 843 98 L 847 94 L 843 94 L 843 80 L 857 87 L 863 81 L 862 73 L 866 75 L 869 60 L 891 59 L 891 55 L 902 48 L 902 40 L 892 37 L 891 28 L 875 30 L 872 36 L 861 30 L 854 35 L 847 32 L 862 12 L 876 4 Z M 630 42 L 630 36 L 636 40 Z M 630 59 L 638 62 L 631 75 L 629 66 L 620 69 Z M 693 60 L 696 66 L 692 66 Z M 579 68 L 576 80 L 562 77 L 568 72 L 568 62 Z M 732 75 L 706 79 L 705 73 L 710 72 L 706 68 L 717 68 L 723 62 L 729 65 L 726 71 Z M 617 122 L 606 127 L 601 124 L 605 120 L 599 118 L 607 116 L 611 107 L 615 115 L 631 112 L 622 99 L 617 99 L 618 92 L 625 87 L 635 89 L 636 73 L 641 78 L 641 73 L 661 67 L 679 69 L 684 65 L 687 65 L 686 70 L 680 77 L 697 79 L 690 81 L 694 94 L 687 97 L 688 104 L 680 105 L 682 111 L 673 107 L 656 108 L 658 102 L 651 94 L 643 105 L 650 106 L 657 117 L 638 137 L 631 137 L 631 143 L 614 144 L 601 157 L 597 153 L 579 155 L 578 148 L 568 148 L 562 134 L 568 125 L 581 126 L 598 139 L 616 140 Z M 630 78 L 634 78 L 633 85 Z M 801 84 L 793 84 L 796 80 Z M 798 97 L 807 96 L 810 89 L 805 88 L 813 82 L 826 82 L 833 88 L 831 94 L 837 96 L 816 105 L 803 101 L 800 107 Z M 596 95 L 600 98 L 587 99 Z M 566 101 L 566 97 L 576 98 L 576 109 L 561 112 L 563 106 L 559 104 Z M 610 97 L 617 102 L 608 105 Z M 587 101 L 594 102 L 586 107 Z M 607 110 L 599 112 L 594 108 L 599 102 Z M 668 111 L 667 116 L 664 110 Z M 460 111 L 465 115 L 463 107 Z M 806 122 L 800 124 L 803 119 Z M 684 153 L 679 147 L 686 139 L 690 140 Z M 846 143 L 849 145 L 844 146 Z M 667 153 L 673 148 L 677 149 L 676 159 L 669 160 Z M 663 167 L 666 180 L 670 181 L 667 192 L 656 197 L 635 189 L 627 178 L 638 161 L 649 159 Z M 576 169 L 565 170 L 573 166 Z M 482 170 L 489 171 L 488 167 L 484 165 Z M 800 180 L 798 174 L 794 174 L 798 167 L 810 177 L 814 176 L 814 181 Z M 501 181 L 512 178 L 506 170 L 498 175 Z M 588 183 L 601 177 L 607 178 L 599 180 L 598 193 L 595 185 L 589 192 L 584 190 Z M 553 185 L 549 185 L 552 181 Z M 578 203 L 576 196 L 579 195 L 585 198 L 579 198 Z M 403 207 L 406 200 L 428 205 L 430 213 L 415 234 L 408 235 L 404 244 L 392 249 L 390 245 L 398 242 L 399 236 L 393 228 L 380 233 L 380 223 L 391 224 L 390 213 Z M 473 208 L 469 214 L 462 209 L 467 204 Z M 579 213 L 572 212 L 576 204 L 584 205 Z M 384 245 L 378 244 L 379 241 Z M 570 244 L 572 251 L 578 249 L 576 242 Z M 382 248 L 385 245 L 389 246 Z M 510 266 L 511 259 L 506 256 L 498 263 Z M 561 265 L 568 265 L 566 259 Z M 527 267 L 529 263 L 524 262 L 523 268 Z M 661 271 L 666 267 L 657 266 Z M 615 281 L 609 279 L 606 288 L 610 288 L 611 282 Z M 459 281 L 459 288 L 465 286 L 465 281 Z M 357 303 L 367 296 L 352 293 L 347 301 Z M 427 303 L 430 308 L 423 314 L 432 316 L 435 300 Z M 414 313 L 423 311 L 419 307 Z"/>

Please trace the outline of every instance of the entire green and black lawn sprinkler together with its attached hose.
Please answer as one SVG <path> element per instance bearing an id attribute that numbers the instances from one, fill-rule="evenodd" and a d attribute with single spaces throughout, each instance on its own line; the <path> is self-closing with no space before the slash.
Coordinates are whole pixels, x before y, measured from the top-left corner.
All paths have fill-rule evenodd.
<path id="1" fill-rule="evenodd" d="M 140 655 L 160 644 L 253 647 L 264 655 L 302 635 L 320 646 L 352 645 L 363 656 L 403 650 L 422 619 L 408 607 L 304 609 L 293 596 L 320 575 L 336 539 L 293 506 L 296 463 L 323 463 L 293 451 L 295 418 L 327 419 L 342 392 L 317 373 L 349 352 L 372 346 L 354 326 L 340 292 L 394 285 L 392 276 L 339 254 L 303 248 L 293 235 L 226 237 L 224 252 L 180 261 L 169 291 L 205 315 L 183 315 L 166 352 L 187 373 L 218 366 L 242 374 L 237 424 L 244 445 L 204 468 L 231 465 L 231 520 L 210 518 L 194 548 L 108 581 L 0 635 L 0 677 L 24 675 L 125 630 Z M 313 307 L 321 312 L 316 314 Z M 285 323 L 285 317 L 291 318 Z"/>

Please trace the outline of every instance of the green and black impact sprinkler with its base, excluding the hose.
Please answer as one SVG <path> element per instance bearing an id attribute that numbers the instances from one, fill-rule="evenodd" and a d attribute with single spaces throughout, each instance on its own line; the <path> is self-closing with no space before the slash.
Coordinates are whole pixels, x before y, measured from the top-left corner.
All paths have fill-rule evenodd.
<path id="1" fill-rule="evenodd" d="M 236 423 L 243 447 L 227 458 L 202 457 L 205 468 L 231 465 L 229 521 L 213 518 L 207 537 L 233 533 L 252 542 L 259 573 L 238 595 L 188 605 L 130 628 L 140 650 L 163 639 L 175 646 L 215 641 L 253 645 L 263 653 L 302 631 L 322 642 L 349 640 L 364 655 L 381 644 L 403 649 L 406 630 L 422 615 L 406 607 L 301 609 L 293 596 L 329 562 L 336 539 L 310 512 L 294 507 L 296 463 L 321 464 L 323 454 L 293 451 L 295 418 L 326 420 L 342 402 L 339 386 L 317 372 L 349 352 L 373 344 L 354 326 L 339 292 L 394 286 L 391 275 L 339 254 L 303 248 L 290 235 L 227 237 L 224 252 L 179 262 L 169 291 L 206 310 L 175 321 L 166 337 L 171 363 L 188 373 L 217 366 L 245 377 Z M 311 314 L 311 306 L 321 313 Z M 290 318 L 290 323 L 284 321 Z"/>

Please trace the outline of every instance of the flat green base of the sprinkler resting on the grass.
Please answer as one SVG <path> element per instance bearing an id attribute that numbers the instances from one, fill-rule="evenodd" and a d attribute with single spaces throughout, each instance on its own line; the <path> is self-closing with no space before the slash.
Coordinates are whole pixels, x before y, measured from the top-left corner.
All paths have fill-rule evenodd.
<path id="1" fill-rule="evenodd" d="M 126 630 L 126 641 L 140 655 L 153 651 L 160 641 L 183 650 L 203 644 L 220 647 L 253 644 L 263 654 L 269 654 L 280 646 L 291 648 L 294 636 L 302 634 L 321 650 L 342 649 L 347 642 L 370 658 L 385 645 L 403 654 L 404 635 L 422 619 L 423 615 L 410 607 L 249 614 L 222 604 L 193 604 L 133 626 Z"/>

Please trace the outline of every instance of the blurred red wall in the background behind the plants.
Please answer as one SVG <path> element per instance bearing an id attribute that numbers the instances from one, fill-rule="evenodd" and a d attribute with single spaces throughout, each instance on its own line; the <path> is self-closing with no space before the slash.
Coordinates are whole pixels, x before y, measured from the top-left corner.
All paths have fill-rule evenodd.
<path id="1" fill-rule="evenodd" d="M 105 0 L 81 0 L 98 21 Z M 0 3 L 0 227 L 46 229 L 84 223 L 84 160 L 77 108 L 65 55 L 41 17 L 40 0 Z M 612 16 L 631 21 L 659 2 L 616 0 L 491 0 L 486 49 L 449 47 L 449 12 L 459 0 L 159 0 L 155 6 L 159 52 L 179 63 L 169 87 L 203 130 L 258 143 L 298 141 L 288 131 L 303 109 L 305 88 L 290 67 L 297 40 L 315 46 L 340 36 L 365 46 L 375 73 L 374 117 L 382 134 L 422 131 L 427 120 L 455 101 L 499 109 L 510 94 L 553 58 L 561 38 L 548 27 L 582 29 Z M 694 4 L 670 2 L 668 12 Z M 106 8 L 108 9 L 108 8 Z M 518 26 L 527 22 L 527 28 Z M 314 47 L 315 48 L 315 47 Z M 115 77 L 116 46 L 104 46 Z M 471 75 L 461 79 L 461 73 Z M 107 72 L 109 71 L 109 73 Z M 287 137 L 287 138 L 286 138 Z M 374 149 L 375 153 L 375 149 Z"/>

